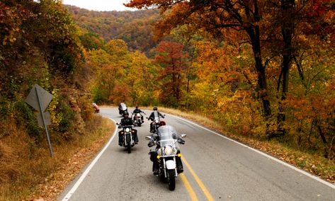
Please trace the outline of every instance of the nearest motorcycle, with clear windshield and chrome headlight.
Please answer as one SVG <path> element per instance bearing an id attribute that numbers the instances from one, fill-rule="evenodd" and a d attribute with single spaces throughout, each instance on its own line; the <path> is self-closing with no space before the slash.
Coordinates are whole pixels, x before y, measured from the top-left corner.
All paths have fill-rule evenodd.
<path id="1" fill-rule="evenodd" d="M 154 137 L 156 135 L 157 137 Z M 181 138 L 186 137 L 186 134 L 178 136 L 174 127 L 165 125 L 159 127 L 158 134 L 154 134 L 153 137 L 147 136 L 152 144 L 148 144 L 149 147 L 157 145 L 156 149 L 150 150 L 149 154 L 154 151 L 157 156 L 159 164 L 159 176 L 163 178 L 169 184 L 169 190 L 176 188 L 175 178 L 178 176 L 177 168 L 182 167 L 181 153 L 178 144 L 185 144 L 185 141 Z M 155 140 L 156 138 L 157 140 Z M 154 160 L 154 159 L 153 159 Z"/>

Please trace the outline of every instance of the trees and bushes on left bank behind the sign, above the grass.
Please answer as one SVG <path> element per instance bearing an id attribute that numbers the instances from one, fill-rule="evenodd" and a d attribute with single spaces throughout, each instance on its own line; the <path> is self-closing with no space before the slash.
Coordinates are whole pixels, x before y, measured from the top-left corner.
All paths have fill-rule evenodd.
<path id="1" fill-rule="evenodd" d="M 1 1 L 0 15 L 1 124 L 21 122 L 18 129 L 24 127 L 40 139 L 35 115 L 24 104 L 30 88 L 39 84 L 54 96 L 49 108 L 52 131 L 71 136 L 75 118 L 82 130 L 89 108 L 74 97 L 86 89 L 84 55 L 69 13 L 60 1 Z"/>

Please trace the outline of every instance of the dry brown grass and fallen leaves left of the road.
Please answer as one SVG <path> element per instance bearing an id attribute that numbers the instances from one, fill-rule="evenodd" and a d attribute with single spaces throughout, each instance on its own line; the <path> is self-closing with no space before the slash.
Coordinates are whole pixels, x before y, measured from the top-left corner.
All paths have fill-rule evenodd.
<path id="1" fill-rule="evenodd" d="M 86 163 L 113 134 L 110 120 L 96 116 L 86 122 L 83 134 L 69 142 L 52 141 L 50 158 L 47 143 L 36 147 L 24 130 L 15 130 L 0 141 L 0 200 L 55 200 Z M 5 165 L 6 164 L 6 165 Z"/>

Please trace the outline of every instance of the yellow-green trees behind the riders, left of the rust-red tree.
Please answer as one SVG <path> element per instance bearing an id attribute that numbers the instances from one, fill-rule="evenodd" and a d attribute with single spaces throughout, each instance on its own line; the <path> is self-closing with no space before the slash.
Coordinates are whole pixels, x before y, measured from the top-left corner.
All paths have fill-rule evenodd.
<path id="1" fill-rule="evenodd" d="M 97 50 L 89 50 L 87 64 L 94 71 L 90 86 L 97 103 L 157 103 L 157 66 L 143 53 L 129 52 L 124 40 L 110 40 Z"/>

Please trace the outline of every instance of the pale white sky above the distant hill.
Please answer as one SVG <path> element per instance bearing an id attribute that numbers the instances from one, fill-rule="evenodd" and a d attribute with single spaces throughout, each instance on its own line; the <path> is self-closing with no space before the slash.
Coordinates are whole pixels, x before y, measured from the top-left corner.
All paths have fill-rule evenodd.
<path id="1" fill-rule="evenodd" d="M 123 4 L 129 0 L 63 0 L 63 4 L 86 8 L 93 11 L 131 11 Z"/>

